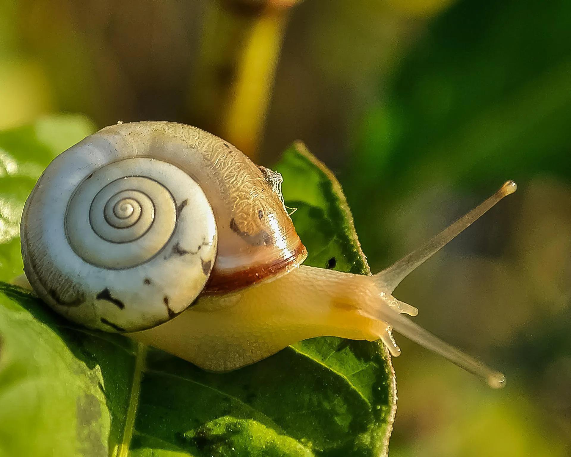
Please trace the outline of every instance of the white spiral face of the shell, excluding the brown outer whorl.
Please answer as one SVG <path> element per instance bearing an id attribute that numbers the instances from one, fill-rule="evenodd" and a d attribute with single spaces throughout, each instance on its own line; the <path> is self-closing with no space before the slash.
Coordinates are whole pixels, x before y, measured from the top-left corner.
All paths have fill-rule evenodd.
<path id="1" fill-rule="evenodd" d="M 92 135 L 50 164 L 26 202 L 26 275 L 75 322 L 154 327 L 208 280 L 218 239 L 211 205 L 190 171 L 155 148 Z"/>

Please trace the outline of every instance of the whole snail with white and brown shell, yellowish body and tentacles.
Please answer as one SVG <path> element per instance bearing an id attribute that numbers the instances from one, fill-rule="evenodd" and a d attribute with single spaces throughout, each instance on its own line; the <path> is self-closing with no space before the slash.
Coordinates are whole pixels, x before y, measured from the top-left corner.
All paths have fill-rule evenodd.
<path id="1" fill-rule="evenodd" d="M 281 177 L 223 139 L 172 122 L 119 123 L 47 167 L 21 223 L 24 271 L 59 314 L 205 370 L 230 371 L 316 336 L 392 330 L 501 387 L 504 376 L 424 330 L 392 295 L 417 266 L 516 190 L 492 197 L 391 267 L 302 265 Z"/>

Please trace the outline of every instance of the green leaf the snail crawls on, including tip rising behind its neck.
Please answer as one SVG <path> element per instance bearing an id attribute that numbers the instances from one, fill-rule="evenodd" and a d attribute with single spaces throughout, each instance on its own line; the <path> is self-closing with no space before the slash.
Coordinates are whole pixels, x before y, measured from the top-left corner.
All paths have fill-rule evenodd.
<path id="1" fill-rule="evenodd" d="M 278 170 L 286 204 L 298 208 L 307 263 L 335 258 L 339 270 L 368 274 L 331 173 L 300 143 Z M 315 338 L 213 374 L 121 335 L 77 328 L 8 284 L 0 287 L 0 338 L 2 456 L 387 453 L 396 386 L 380 343 Z"/>

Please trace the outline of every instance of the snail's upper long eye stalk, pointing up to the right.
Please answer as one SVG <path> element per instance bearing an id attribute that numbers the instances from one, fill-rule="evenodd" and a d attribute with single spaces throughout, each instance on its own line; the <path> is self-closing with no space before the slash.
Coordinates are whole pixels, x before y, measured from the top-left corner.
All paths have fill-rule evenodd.
<path id="1" fill-rule="evenodd" d="M 442 247 L 451 242 L 457 235 L 459 235 L 465 228 L 469 227 L 473 222 L 486 213 L 490 208 L 496 205 L 502 198 L 507 195 L 513 194 L 517 189 L 517 185 L 513 181 L 507 181 L 500 189 L 489 197 L 475 209 L 464 215 L 451 226 L 445 228 L 434 238 L 420 246 L 417 250 L 412 251 L 410 254 L 405 255 L 398 262 L 394 263 L 385 270 L 377 273 L 373 277 L 377 284 L 392 293 L 396 286 L 416 267 L 423 264 L 427 259 L 431 258 Z"/>

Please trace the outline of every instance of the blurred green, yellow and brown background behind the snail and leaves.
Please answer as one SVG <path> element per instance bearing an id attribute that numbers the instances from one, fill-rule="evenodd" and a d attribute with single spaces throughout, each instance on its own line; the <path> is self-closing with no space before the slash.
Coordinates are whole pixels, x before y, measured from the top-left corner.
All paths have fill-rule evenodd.
<path id="1" fill-rule="evenodd" d="M 0 0 L 0 129 L 172 120 L 264 165 L 302 139 L 344 186 L 373 271 L 514 179 L 395 292 L 508 384 L 397 335 L 390 452 L 571 455 L 571 3 L 293 3 Z M 9 239 L 18 215 L 0 210 Z"/>

